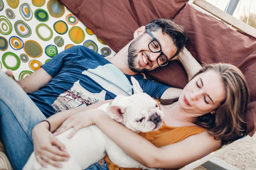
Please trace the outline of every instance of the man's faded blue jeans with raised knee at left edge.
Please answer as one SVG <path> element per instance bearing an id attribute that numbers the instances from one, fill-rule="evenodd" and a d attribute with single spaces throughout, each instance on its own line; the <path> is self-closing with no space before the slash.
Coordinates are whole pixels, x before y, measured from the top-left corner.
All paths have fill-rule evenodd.
<path id="1" fill-rule="evenodd" d="M 0 71 L 0 135 L 14 169 L 33 152 L 32 129 L 46 116 L 16 82 Z"/>

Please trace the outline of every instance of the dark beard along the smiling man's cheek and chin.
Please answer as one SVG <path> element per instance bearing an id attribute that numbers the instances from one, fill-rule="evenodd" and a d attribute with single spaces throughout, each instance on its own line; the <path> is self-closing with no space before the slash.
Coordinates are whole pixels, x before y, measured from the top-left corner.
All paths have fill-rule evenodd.
<path id="1" fill-rule="evenodd" d="M 141 39 L 142 36 L 134 40 L 128 47 L 128 64 L 129 68 L 132 69 L 132 72 L 137 72 L 137 73 L 145 73 L 148 72 L 149 69 L 146 68 L 140 68 L 140 65 L 135 63 L 135 59 L 137 58 L 137 42 L 139 39 Z"/>

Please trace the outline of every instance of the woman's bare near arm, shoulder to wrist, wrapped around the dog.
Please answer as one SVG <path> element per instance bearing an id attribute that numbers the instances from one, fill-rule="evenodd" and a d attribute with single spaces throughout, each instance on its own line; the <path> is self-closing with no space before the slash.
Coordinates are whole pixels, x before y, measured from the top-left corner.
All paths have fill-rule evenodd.
<path id="1" fill-rule="evenodd" d="M 176 144 L 158 148 L 101 111 L 97 111 L 93 122 L 130 157 L 149 168 L 180 168 L 220 147 L 220 141 L 202 132 Z"/>

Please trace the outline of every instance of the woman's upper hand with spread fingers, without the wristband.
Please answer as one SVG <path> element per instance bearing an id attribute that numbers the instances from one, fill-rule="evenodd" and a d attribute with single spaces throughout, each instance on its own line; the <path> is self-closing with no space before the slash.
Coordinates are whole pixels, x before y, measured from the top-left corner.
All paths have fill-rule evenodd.
<path id="1" fill-rule="evenodd" d="M 104 113 L 104 112 L 97 108 L 75 113 L 74 115 L 71 115 L 69 118 L 67 118 L 60 125 L 60 127 L 57 130 L 55 130 L 53 135 L 59 135 L 60 133 L 65 132 L 70 128 L 73 128 L 72 132 L 70 132 L 70 134 L 68 135 L 68 138 L 71 138 L 81 128 L 94 125 L 95 118 L 97 118 L 97 116 L 100 115 L 101 113 Z"/>

